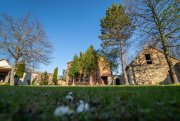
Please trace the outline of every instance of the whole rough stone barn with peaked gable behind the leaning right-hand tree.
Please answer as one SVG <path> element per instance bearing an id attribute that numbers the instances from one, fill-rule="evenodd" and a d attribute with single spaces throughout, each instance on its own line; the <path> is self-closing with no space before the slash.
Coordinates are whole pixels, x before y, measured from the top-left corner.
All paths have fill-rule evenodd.
<path id="1" fill-rule="evenodd" d="M 180 80 L 180 60 L 170 56 L 178 80 Z M 146 47 L 126 67 L 128 81 L 137 85 L 169 84 L 168 64 L 163 52 Z"/>

